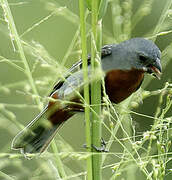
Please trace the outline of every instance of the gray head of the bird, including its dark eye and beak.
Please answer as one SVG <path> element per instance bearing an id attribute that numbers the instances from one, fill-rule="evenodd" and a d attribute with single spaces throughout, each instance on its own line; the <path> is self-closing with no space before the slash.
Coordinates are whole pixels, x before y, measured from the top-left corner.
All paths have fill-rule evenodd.
<path id="1" fill-rule="evenodd" d="M 160 63 L 161 51 L 150 40 L 133 38 L 117 45 L 117 49 L 123 51 L 127 69 L 135 68 L 160 77 L 162 67 Z"/>

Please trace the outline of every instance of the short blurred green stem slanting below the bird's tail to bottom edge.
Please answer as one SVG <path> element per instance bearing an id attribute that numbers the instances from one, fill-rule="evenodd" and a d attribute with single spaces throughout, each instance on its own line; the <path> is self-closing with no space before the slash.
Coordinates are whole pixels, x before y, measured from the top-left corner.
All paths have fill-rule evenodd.
<path id="1" fill-rule="evenodd" d="M 62 161 L 60 157 L 58 156 L 58 149 L 54 140 L 51 143 L 51 148 L 53 152 L 55 153 L 55 162 L 56 162 L 56 167 L 58 169 L 59 175 L 61 178 L 65 179 L 67 176 L 66 176 Z"/>

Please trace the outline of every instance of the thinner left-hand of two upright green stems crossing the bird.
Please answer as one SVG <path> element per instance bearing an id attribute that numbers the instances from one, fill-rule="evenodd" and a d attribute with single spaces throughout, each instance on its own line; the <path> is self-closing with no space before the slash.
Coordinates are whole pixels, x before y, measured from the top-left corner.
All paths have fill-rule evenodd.
<path id="1" fill-rule="evenodd" d="M 81 32 L 81 47 L 82 47 L 82 62 L 83 62 L 83 76 L 84 76 L 84 100 L 85 100 L 85 122 L 86 122 L 86 144 L 87 152 L 91 152 L 91 127 L 90 127 L 90 98 L 88 85 L 88 62 L 87 62 L 87 37 L 86 37 L 86 23 L 85 23 L 85 8 L 84 0 L 79 0 L 80 9 L 80 32 Z M 87 158 L 87 179 L 92 180 L 92 156 Z"/>

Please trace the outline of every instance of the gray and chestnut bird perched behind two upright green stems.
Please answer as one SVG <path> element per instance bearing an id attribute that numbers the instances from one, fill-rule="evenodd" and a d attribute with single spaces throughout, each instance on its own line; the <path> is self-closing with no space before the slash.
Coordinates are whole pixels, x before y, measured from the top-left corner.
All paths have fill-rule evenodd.
<path id="1" fill-rule="evenodd" d="M 145 74 L 160 79 L 160 59 L 161 51 L 157 45 L 140 37 L 103 46 L 100 64 L 110 101 L 118 104 L 127 99 L 140 88 Z M 88 55 L 88 76 L 92 79 L 90 61 L 91 55 Z M 44 152 L 59 128 L 77 112 L 84 112 L 82 60 L 68 72 L 54 86 L 49 96 L 51 100 L 43 111 L 14 137 L 12 149 L 23 154 Z"/>

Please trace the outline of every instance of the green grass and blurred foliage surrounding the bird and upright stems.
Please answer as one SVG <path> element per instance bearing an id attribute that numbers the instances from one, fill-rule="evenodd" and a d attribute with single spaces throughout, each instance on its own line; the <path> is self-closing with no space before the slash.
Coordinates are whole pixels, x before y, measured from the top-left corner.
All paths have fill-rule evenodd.
<path id="1" fill-rule="evenodd" d="M 65 124 L 44 154 L 29 161 L 10 150 L 13 137 L 47 103 L 54 83 L 81 57 L 77 3 L 0 1 L 0 179 L 81 180 L 87 176 L 86 160 L 100 155 L 82 148 L 85 127 L 80 114 Z M 95 113 L 109 150 L 101 153 L 102 179 L 172 178 L 171 8 L 171 0 L 99 1 L 103 44 L 135 36 L 153 39 L 162 50 L 163 66 L 161 81 L 146 77 L 143 89 L 120 105 L 112 104 L 104 92 L 104 108 Z M 90 16 L 86 11 L 88 49 Z"/>

